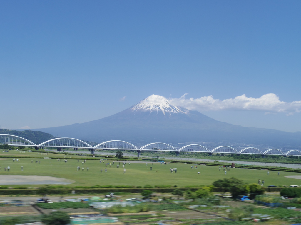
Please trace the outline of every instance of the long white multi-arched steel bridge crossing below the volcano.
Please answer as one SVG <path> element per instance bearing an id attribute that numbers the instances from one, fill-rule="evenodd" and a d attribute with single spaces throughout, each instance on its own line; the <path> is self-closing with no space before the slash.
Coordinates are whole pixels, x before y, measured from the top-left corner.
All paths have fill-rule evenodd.
<path id="1" fill-rule="evenodd" d="M 206 147 L 197 144 L 186 145 L 182 148 L 176 149 L 175 147 L 169 144 L 160 143 L 160 142 L 147 144 L 141 148 L 138 148 L 137 146 L 129 142 L 120 141 L 120 140 L 105 141 L 96 146 L 91 146 L 90 144 L 82 140 L 78 140 L 70 137 L 54 138 L 40 144 L 35 144 L 23 137 L 18 137 L 9 134 L 0 134 L 0 144 L 8 144 L 10 146 L 35 147 L 35 149 L 41 149 L 44 147 L 57 148 L 58 151 L 60 151 L 62 148 L 73 148 L 74 150 L 80 148 L 80 149 L 89 149 L 91 150 L 92 154 L 94 154 L 95 150 L 106 150 L 106 149 L 118 150 L 118 151 L 134 150 L 137 151 L 138 157 L 140 156 L 140 153 L 142 151 L 176 152 L 177 155 L 179 155 L 180 152 L 197 152 L 197 153 L 208 153 L 208 154 L 234 153 L 234 154 L 263 155 L 263 156 L 264 155 L 301 156 L 301 151 L 299 150 L 290 150 L 284 153 L 280 149 L 268 149 L 266 151 L 261 151 L 260 149 L 254 147 L 248 147 L 238 151 L 230 146 L 219 146 L 216 147 L 215 149 L 209 150 Z"/>

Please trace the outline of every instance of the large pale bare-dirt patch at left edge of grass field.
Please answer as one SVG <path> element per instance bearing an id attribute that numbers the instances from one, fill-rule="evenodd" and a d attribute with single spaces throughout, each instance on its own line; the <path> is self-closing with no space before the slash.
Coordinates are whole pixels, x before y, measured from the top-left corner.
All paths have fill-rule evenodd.
<path id="1" fill-rule="evenodd" d="M 3 184 L 72 184 L 75 181 L 50 176 L 10 176 L 0 175 L 0 185 Z"/>

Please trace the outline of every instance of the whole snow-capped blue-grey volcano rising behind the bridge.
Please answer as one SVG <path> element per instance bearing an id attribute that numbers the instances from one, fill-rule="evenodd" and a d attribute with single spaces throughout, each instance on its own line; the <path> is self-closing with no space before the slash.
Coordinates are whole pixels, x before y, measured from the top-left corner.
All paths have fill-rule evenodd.
<path id="1" fill-rule="evenodd" d="M 82 124 L 33 129 L 61 137 L 101 143 L 124 140 L 136 145 L 164 143 L 222 143 L 223 145 L 265 145 L 298 148 L 301 132 L 290 133 L 263 128 L 247 128 L 212 119 L 197 111 L 173 106 L 160 95 L 151 95 L 132 107 Z"/>

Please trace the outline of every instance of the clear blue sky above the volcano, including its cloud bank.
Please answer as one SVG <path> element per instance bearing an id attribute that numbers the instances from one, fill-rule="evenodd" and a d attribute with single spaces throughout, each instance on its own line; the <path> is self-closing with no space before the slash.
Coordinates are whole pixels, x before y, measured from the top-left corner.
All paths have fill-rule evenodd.
<path id="1" fill-rule="evenodd" d="M 300 9 L 301 1 L 2 0 L 0 126 L 88 122 L 156 94 L 223 122 L 301 131 Z"/>

